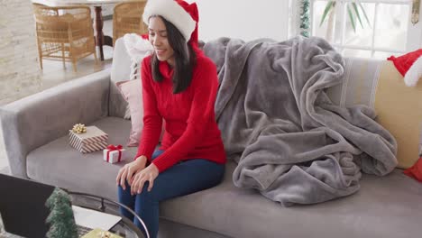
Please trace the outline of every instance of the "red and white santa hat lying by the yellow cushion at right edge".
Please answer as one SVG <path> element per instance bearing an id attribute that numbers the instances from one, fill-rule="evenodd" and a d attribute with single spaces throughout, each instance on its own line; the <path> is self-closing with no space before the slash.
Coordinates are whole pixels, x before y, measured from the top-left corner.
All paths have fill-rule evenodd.
<path id="1" fill-rule="evenodd" d="M 396 69 L 404 77 L 405 84 L 408 87 L 417 85 L 417 81 L 422 77 L 422 49 L 409 52 L 397 58 L 391 56 L 388 60 L 394 63 Z"/>

